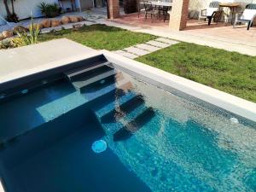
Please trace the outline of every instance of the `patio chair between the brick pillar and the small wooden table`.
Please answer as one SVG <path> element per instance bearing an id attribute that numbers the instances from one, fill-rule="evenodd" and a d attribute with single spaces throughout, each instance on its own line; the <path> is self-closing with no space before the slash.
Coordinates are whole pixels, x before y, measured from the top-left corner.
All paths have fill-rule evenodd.
<path id="1" fill-rule="evenodd" d="M 222 10 L 219 10 L 218 5 L 219 5 L 219 2 L 217 1 L 213 1 L 212 3 L 210 3 L 207 9 L 202 9 L 199 12 L 198 20 L 208 19 L 208 26 L 211 25 L 212 18 L 214 19 L 214 21 L 218 22 L 221 19 L 221 15 L 222 15 Z"/>

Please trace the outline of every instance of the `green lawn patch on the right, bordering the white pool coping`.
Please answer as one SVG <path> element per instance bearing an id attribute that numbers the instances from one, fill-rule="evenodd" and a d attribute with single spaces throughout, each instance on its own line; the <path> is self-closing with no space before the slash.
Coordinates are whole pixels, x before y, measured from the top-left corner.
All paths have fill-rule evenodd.
<path id="1" fill-rule="evenodd" d="M 137 61 L 256 102 L 256 57 L 180 43 Z"/>

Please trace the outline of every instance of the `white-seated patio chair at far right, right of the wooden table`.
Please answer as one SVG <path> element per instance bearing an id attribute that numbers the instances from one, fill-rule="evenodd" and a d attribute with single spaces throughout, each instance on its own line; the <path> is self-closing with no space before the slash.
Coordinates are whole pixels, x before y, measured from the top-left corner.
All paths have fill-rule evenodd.
<path id="1" fill-rule="evenodd" d="M 256 4 L 247 4 L 242 13 L 236 14 L 233 27 L 235 27 L 237 23 L 247 23 L 247 30 L 249 30 L 250 27 L 253 26 L 254 18 L 256 18 Z"/>

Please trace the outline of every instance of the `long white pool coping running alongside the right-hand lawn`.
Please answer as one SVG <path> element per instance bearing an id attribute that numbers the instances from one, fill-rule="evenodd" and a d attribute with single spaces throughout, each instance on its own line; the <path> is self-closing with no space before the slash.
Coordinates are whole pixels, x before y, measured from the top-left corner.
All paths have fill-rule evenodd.
<path id="1" fill-rule="evenodd" d="M 256 103 L 254 102 L 248 102 L 240 97 L 232 96 L 204 84 L 184 79 L 172 73 L 166 73 L 158 68 L 150 67 L 141 62 L 114 54 L 108 50 L 102 50 L 102 53 L 108 61 L 113 62 L 117 66 L 127 68 L 138 75 L 153 79 L 156 82 L 160 82 L 160 84 L 166 84 L 176 90 L 189 94 L 190 96 L 195 96 L 202 101 L 209 102 L 219 108 L 224 108 L 231 113 L 236 113 L 241 117 L 256 122 Z"/>

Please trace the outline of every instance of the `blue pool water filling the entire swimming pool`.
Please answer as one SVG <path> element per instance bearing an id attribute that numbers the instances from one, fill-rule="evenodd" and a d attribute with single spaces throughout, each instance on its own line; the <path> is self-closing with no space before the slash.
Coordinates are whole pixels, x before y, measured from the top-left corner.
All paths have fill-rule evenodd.
<path id="1" fill-rule="evenodd" d="M 112 70 L 1 103 L 7 191 L 256 191 L 254 124 Z"/>

